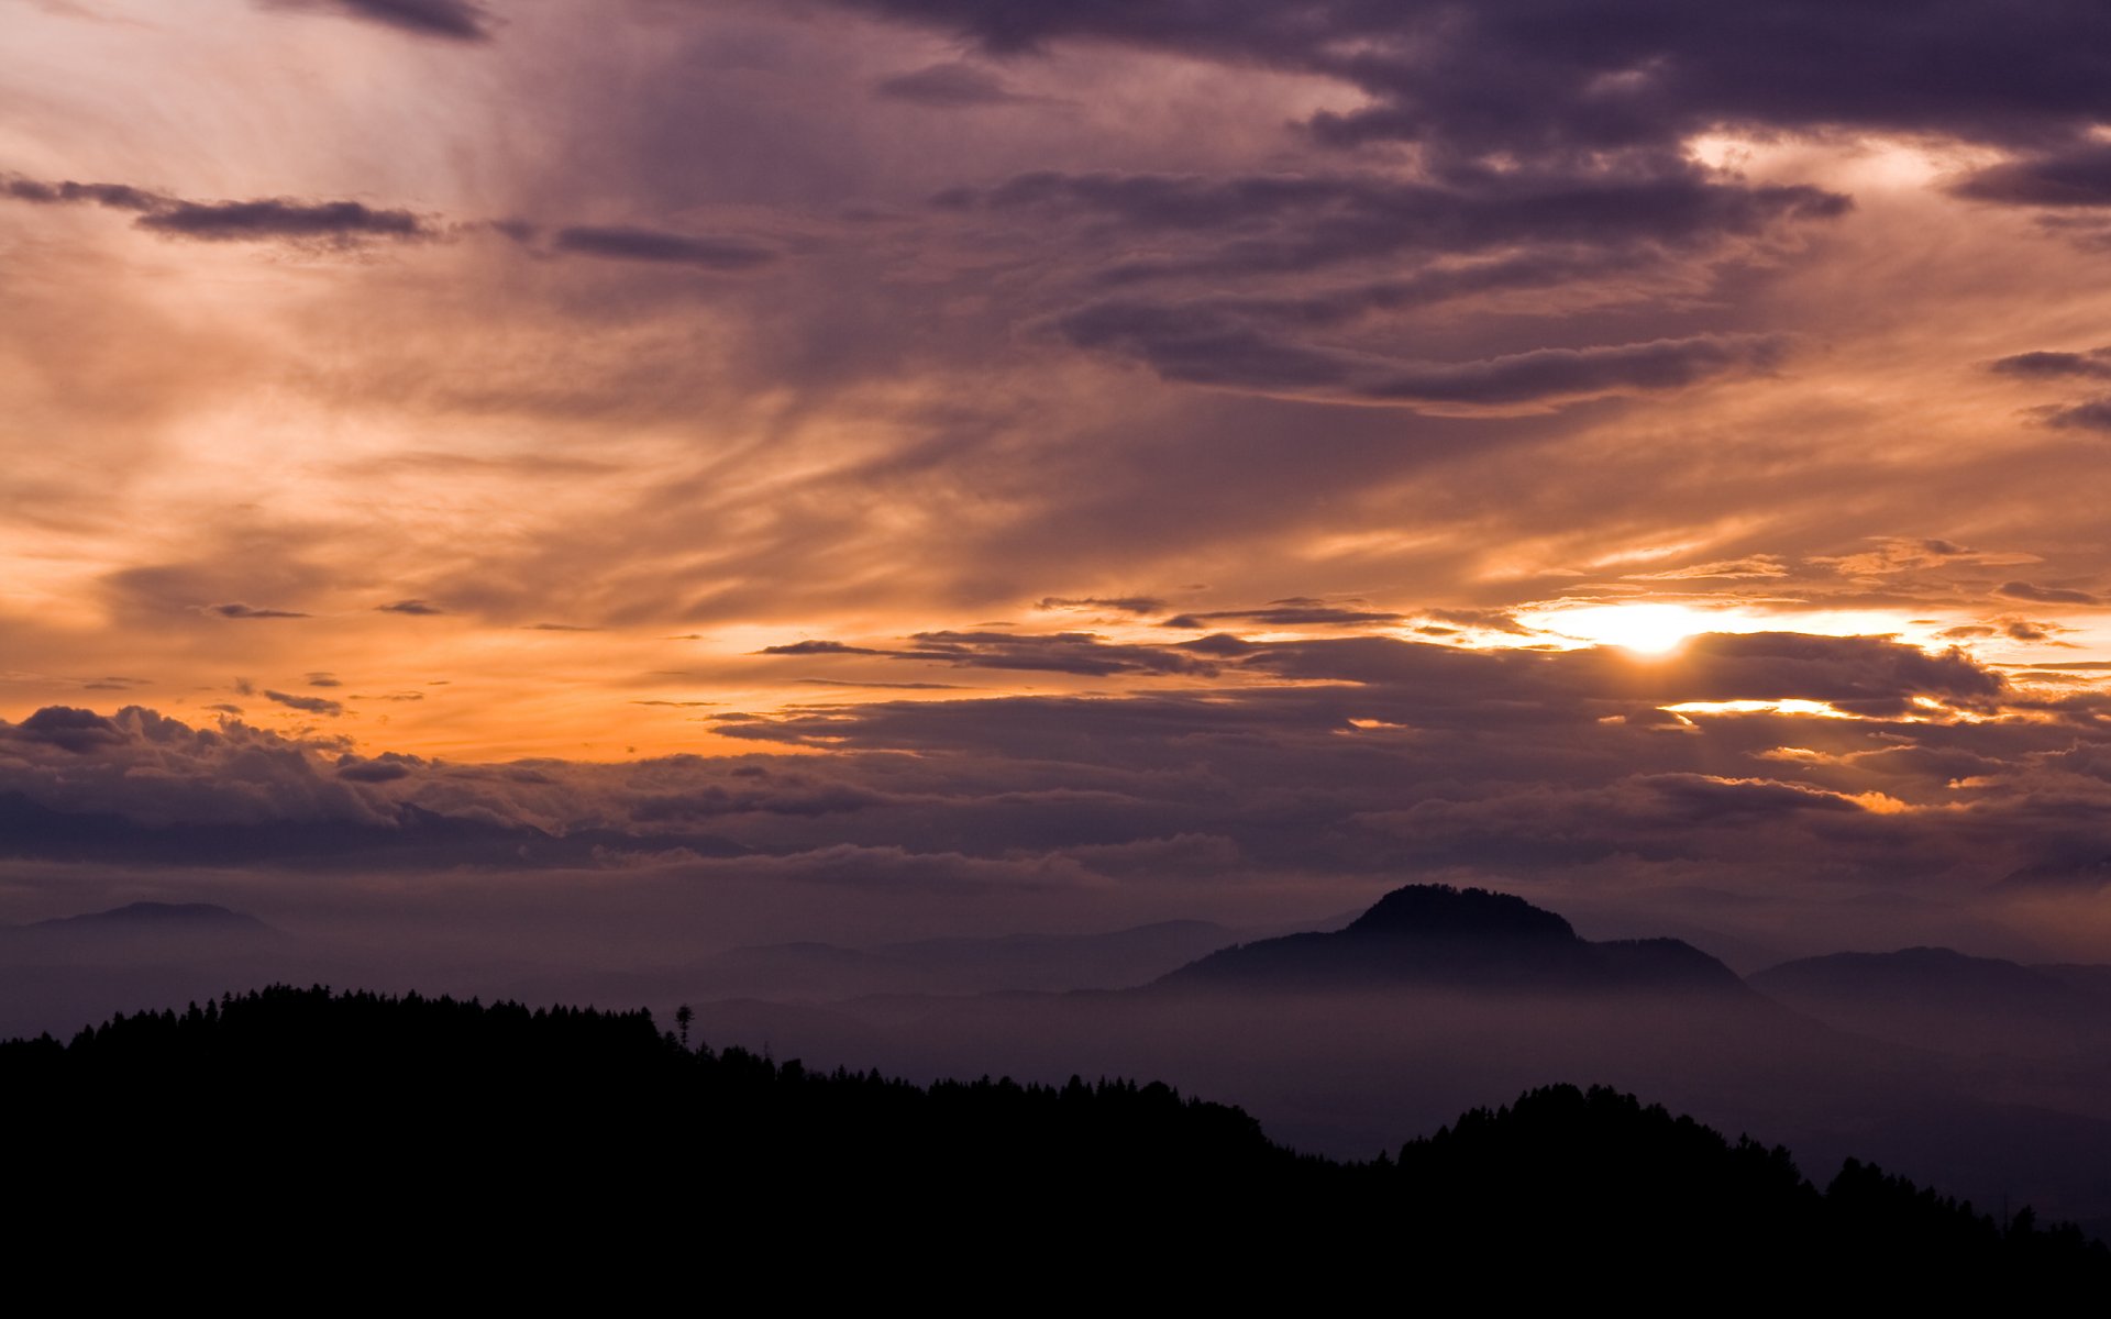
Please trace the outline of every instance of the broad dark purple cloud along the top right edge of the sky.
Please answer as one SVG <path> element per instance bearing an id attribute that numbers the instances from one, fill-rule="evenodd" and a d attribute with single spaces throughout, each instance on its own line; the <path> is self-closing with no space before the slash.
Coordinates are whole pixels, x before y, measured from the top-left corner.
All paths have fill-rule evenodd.
<path id="1" fill-rule="evenodd" d="M 994 53 L 1093 40 L 1326 74 L 1366 103 L 1315 116 L 1324 141 L 1414 141 L 1438 163 L 1670 152 L 1718 127 L 2043 141 L 2111 118 L 2111 15 L 2067 0 L 1957 0 L 1910 23 L 1818 0 L 838 4 Z"/>

